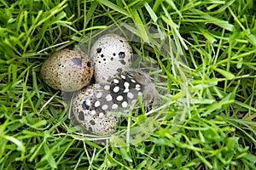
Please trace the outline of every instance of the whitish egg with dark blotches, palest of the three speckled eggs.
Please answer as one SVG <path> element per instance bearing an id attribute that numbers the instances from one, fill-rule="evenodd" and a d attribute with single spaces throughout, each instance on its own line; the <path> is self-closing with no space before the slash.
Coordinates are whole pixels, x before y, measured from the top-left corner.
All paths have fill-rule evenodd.
<path id="1" fill-rule="evenodd" d="M 109 82 L 117 72 L 130 68 L 131 56 L 131 46 L 124 37 L 106 34 L 97 39 L 90 49 L 96 82 Z"/>

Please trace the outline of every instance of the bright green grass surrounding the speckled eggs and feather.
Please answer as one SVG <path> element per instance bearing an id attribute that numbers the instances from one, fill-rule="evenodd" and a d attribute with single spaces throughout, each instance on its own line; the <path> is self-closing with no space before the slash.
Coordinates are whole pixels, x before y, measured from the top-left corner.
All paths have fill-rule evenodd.
<path id="1" fill-rule="evenodd" d="M 0 169 L 256 169 L 255 13 L 253 0 L 1 0 Z M 75 139 L 61 92 L 38 75 L 50 53 L 120 23 L 168 35 L 189 68 L 138 26 L 132 48 L 158 61 L 170 105 L 147 139 L 108 147 Z"/>

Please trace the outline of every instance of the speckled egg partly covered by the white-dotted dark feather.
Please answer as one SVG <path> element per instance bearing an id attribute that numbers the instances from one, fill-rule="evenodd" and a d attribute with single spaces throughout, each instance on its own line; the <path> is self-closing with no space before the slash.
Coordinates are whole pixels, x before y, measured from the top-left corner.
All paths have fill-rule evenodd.
<path id="1" fill-rule="evenodd" d="M 104 93 L 104 90 L 98 84 L 91 84 L 79 91 L 73 99 L 73 114 L 87 131 L 104 136 L 115 132 L 119 118 L 107 113 L 111 109 L 108 105 L 96 101 L 102 97 L 99 92 Z"/>

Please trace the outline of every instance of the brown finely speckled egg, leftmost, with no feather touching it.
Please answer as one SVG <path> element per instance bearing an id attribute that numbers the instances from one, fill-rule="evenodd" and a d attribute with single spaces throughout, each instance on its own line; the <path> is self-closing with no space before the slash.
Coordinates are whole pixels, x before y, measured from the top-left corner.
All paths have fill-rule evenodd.
<path id="1" fill-rule="evenodd" d="M 92 61 L 87 54 L 62 49 L 44 61 L 41 77 L 51 88 L 72 92 L 86 86 L 93 71 Z"/>

